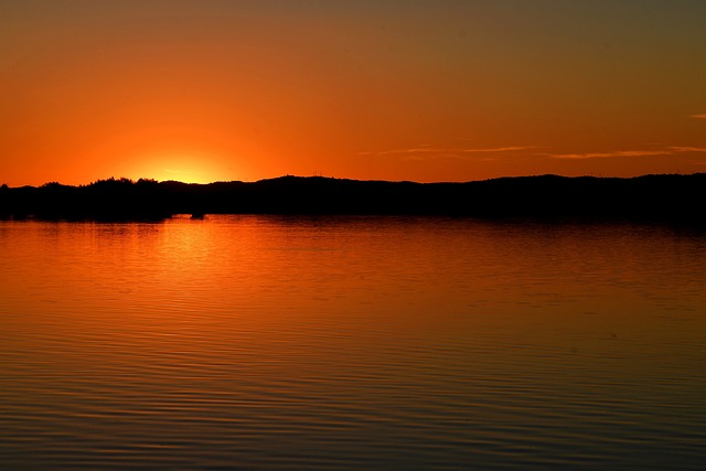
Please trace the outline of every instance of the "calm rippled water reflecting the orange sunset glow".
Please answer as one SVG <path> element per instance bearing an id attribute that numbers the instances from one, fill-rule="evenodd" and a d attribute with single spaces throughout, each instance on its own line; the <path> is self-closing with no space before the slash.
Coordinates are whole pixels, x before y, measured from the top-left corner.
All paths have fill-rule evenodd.
<path id="1" fill-rule="evenodd" d="M 0 468 L 703 469 L 706 235 L 0 222 Z"/>

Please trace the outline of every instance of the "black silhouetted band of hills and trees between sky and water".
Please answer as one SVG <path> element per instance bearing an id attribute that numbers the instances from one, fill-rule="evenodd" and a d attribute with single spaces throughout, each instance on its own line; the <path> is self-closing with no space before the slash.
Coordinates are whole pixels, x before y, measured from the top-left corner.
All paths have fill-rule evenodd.
<path id="1" fill-rule="evenodd" d="M 468 183 L 281 176 L 186 184 L 127 179 L 0 188 L 0 217 L 161 220 L 173 214 L 370 214 L 706 222 L 706 173 L 556 175 Z"/>

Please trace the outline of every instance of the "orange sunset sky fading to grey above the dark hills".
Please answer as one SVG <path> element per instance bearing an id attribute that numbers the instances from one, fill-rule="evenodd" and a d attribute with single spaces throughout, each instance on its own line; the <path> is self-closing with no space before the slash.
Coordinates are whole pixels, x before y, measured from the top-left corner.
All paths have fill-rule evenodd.
<path id="1" fill-rule="evenodd" d="M 0 183 L 706 171 L 706 1 L 0 0 Z"/>

